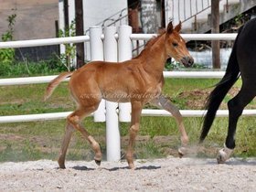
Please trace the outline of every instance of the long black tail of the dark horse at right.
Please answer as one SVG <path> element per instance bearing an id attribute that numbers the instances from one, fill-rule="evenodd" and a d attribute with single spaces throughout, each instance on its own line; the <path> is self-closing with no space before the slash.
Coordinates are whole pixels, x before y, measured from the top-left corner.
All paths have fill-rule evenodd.
<path id="1" fill-rule="evenodd" d="M 240 36 L 241 30 L 242 30 L 242 27 L 240 27 L 238 37 Z M 204 123 L 201 131 L 201 135 L 200 135 L 200 143 L 202 143 L 206 138 L 206 136 L 208 135 L 208 131 L 213 123 L 213 120 L 216 116 L 216 112 L 219 109 L 219 105 L 221 101 L 223 101 L 229 89 L 240 77 L 240 68 L 239 68 L 239 63 L 238 63 L 237 54 L 236 54 L 238 37 L 236 37 L 234 46 L 232 48 L 224 77 L 222 78 L 222 80 L 219 81 L 215 89 L 211 91 L 211 93 L 208 96 L 208 99 L 205 105 L 205 109 L 208 110 L 208 112 L 204 118 Z"/>

